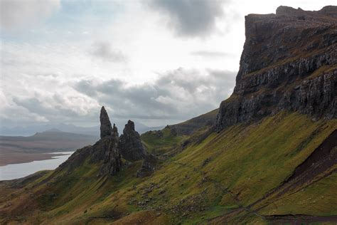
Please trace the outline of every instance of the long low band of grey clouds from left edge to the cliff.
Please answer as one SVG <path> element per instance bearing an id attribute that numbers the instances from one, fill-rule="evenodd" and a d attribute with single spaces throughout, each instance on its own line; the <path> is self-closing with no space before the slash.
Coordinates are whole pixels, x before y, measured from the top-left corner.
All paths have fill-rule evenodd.
<path id="1" fill-rule="evenodd" d="M 12 103 L 16 111 L 30 115 L 32 121 L 97 122 L 100 105 L 105 105 L 113 121 L 162 124 L 218 108 L 234 85 L 232 71 L 178 68 L 159 74 L 154 83 L 130 86 L 118 79 L 80 80 L 73 83 L 72 94 L 36 92 L 29 97 L 14 97 Z M 10 110 L 3 113 L 6 116 L 1 120 L 12 118 Z"/>

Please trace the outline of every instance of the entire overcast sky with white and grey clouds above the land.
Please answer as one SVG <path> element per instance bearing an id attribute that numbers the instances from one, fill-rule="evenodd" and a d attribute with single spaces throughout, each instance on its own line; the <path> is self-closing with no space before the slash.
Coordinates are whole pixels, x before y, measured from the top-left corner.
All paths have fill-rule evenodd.
<path id="1" fill-rule="evenodd" d="M 336 0 L 0 0 L 1 126 L 157 126 L 218 108 L 235 85 L 244 16 Z"/>

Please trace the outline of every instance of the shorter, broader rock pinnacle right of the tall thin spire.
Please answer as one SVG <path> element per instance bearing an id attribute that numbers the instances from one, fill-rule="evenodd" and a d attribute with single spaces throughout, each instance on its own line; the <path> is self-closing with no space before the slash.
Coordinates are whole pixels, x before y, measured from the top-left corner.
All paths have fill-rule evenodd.
<path id="1" fill-rule="evenodd" d="M 129 161 L 144 159 L 145 150 L 141 144 L 139 133 L 134 130 L 134 122 L 131 120 L 127 122 L 123 135 L 119 137 L 119 150 L 122 157 Z"/>

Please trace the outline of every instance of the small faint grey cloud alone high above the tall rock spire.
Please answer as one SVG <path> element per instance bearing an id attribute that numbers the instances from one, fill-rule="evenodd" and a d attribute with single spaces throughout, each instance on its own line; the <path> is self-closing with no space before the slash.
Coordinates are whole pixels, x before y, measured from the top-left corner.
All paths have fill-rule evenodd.
<path id="1" fill-rule="evenodd" d="M 105 61 L 111 62 L 123 62 L 127 58 L 122 51 L 113 49 L 110 43 L 98 42 L 92 45 L 92 49 L 89 51 L 92 56 L 98 57 Z"/>

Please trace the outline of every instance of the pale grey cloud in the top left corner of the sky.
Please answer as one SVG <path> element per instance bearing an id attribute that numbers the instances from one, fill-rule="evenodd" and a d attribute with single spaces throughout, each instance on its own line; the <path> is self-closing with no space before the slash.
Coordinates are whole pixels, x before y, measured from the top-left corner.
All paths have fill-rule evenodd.
<path id="1" fill-rule="evenodd" d="M 1 28 L 6 30 L 23 28 L 48 18 L 59 8 L 60 0 L 1 0 Z"/>

